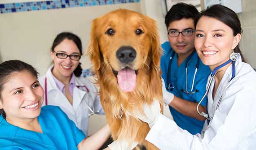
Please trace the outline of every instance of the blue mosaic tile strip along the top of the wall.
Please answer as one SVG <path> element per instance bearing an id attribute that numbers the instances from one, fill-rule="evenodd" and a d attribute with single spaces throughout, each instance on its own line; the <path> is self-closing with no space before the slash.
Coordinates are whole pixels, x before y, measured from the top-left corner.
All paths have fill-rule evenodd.
<path id="1" fill-rule="evenodd" d="M 0 13 L 16 13 L 72 7 L 88 7 L 109 4 L 137 3 L 140 0 L 49 0 L 24 3 L 0 4 Z"/>

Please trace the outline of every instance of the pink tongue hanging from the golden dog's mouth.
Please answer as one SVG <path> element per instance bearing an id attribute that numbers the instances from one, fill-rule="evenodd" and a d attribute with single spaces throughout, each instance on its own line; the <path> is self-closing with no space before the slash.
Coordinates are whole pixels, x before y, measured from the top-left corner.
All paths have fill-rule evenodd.
<path id="1" fill-rule="evenodd" d="M 136 74 L 132 69 L 122 69 L 118 72 L 117 81 L 123 92 L 132 92 L 136 86 Z"/>

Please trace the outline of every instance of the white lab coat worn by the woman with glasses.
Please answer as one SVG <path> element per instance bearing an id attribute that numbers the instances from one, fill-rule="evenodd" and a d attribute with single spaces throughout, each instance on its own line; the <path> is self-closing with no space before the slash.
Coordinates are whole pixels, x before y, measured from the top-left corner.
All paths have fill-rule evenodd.
<path id="1" fill-rule="evenodd" d="M 73 90 L 73 105 L 69 103 L 66 96 L 58 89 L 52 73 L 51 68 L 47 71 L 47 102 L 48 105 L 54 105 L 61 107 L 69 119 L 71 119 L 75 125 L 81 129 L 86 136 L 88 136 L 88 119 L 91 114 L 88 106 L 96 114 L 104 114 L 99 95 L 97 94 L 98 90 L 93 83 L 91 83 L 87 78 L 84 77 L 75 77 L 75 88 Z M 45 90 L 45 76 L 39 78 L 41 86 Z M 79 88 L 77 86 L 80 86 Z M 86 86 L 89 90 L 87 92 Z M 88 104 L 88 106 L 87 106 Z M 45 105 L 45 94 L 44 94 L 44 103 Z M 63 124 L 65 125 L 65 124 Z"/>

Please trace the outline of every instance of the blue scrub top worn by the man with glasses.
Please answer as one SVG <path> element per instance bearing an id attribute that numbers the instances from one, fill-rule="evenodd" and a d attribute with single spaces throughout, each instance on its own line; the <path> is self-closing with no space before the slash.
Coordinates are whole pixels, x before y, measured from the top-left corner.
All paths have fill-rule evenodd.
<path id="1" fill-rule="evenodd" d="M 172 56 L 172 53 L 174 51 L 170 46 L 169 42 L 163 43 L 162 48 L 163 48 L 163 56 L 161 57 L 161 69 L 162 69 L 162 77 L 164 79 L 165 86 L 167 89 L 168 65 L 169 65 L 170 56 Z M 197 64 L 197 58 L 198 58 L 198 55 L 195 52 L 193 56 L 190 58 L 187 66 L 187 70 L 188 70 L 187 90 L 188 91 L 191 90 L 192 81 L 193 81 L 194 72 L 195 72 L 195 65 Z M 174 89 L 169 92 L 173 93 L 175 96 L 181 99 L 199 103 L 199 101 L 203 97 L 203 94 L 205 93 L 207 78 L 210 75 L 211 70 L 208 66 L 204 65 L 202 61 L 199 59 L 199 68 L 195 76 L 194 89 L 193 89 L 193 91 L 194 90 L 199 90 L 199 91 L 194 94 L 186 94 L 182 91 L 182 89 L 184 90 L 186 89 L 186 71 L 185 71 L 186 61 L 187 60 L 184 60 L 182 64 L 178 66 L 177 54 L 173 56 L 172 66 L 171 66 L 171 79 L 169 80 L 171 81 L 172 86 L 174 86 Z M 207 105 L 207 96 L 204 98 L 201 105 L 203 106 Z M 182 129 L 187 130 L 191 134 L 201 133 L 201 130 L 203 129 L 204 121 L 196 120 L 194 118 L 185 116 L 170 106 L 169 106 L 169 109 L 172 113 L 174 121 Z"/>

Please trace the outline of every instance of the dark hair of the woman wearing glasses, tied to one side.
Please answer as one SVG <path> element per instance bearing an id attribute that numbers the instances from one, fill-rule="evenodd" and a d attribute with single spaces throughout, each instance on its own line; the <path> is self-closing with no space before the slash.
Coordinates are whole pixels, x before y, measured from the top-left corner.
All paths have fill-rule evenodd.
<path id="1" fill-rule="evenodd" d="M 71 33 L 71 32 L 62 32 L 60 34 L 58 34 L 56 36 L 56 38 L 54 39 L 53 41 L 53 45 L 52 45 L 52 48 L 51 48 L 51 51 L 54 52 L 54 48 L 59 45 L 60 43 L 62 43 L 62 41 L 64 39 L 69 39 L 69 40 L 72 40 L 73 42 L 75 42 L 75 45 L 78 47 L 79 49 L 79 52 L 80 54 L 82 55 L 82 42 L 81 42 L 81 39 Z M 82 74 L 82 67 L 81 67 L 81 63 L 78 64 L 78 66 L 76 67 L 76 69 L 74 70 L 74 74 L 76 77 L 79 77 L 81 74 Z"/>

